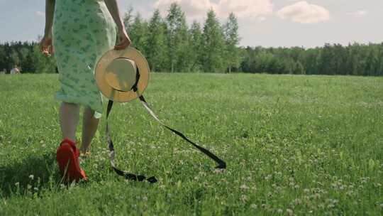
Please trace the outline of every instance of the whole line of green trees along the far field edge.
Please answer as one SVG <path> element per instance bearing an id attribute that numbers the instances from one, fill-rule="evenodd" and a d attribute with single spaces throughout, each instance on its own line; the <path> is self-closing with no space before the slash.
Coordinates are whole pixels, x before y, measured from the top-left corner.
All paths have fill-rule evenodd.
<path id="1" fill-rule="evenodd" d="M 220 23 L 207 12 L 204 23 L 187 24 L 179 4 L 163 17 L 159 10 L 145 20 L 130 7 L 123 21 L 133 47 L 148 59 L 154 72 L 249 72 L 306 75 L 383 75 L 383 43 L 318 48 L 240 47 L 238 20 L 231 13 Z M 54 58 L 40 54 L 38 43 L 0 44 L 0 70 L 13 65 L 23 72 L 57 72 Z"/>

